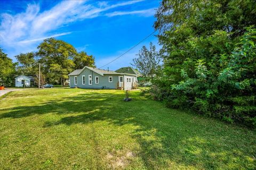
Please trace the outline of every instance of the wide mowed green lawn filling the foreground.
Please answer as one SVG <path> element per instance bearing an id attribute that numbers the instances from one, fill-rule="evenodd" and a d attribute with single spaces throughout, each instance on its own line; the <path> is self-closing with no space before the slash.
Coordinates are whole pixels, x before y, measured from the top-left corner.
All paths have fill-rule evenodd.
<path id="1" fill-rule="evenodd" d="M 0 169 L 255 169 L 256 133 L 121 90 L 0 100 Z"/>

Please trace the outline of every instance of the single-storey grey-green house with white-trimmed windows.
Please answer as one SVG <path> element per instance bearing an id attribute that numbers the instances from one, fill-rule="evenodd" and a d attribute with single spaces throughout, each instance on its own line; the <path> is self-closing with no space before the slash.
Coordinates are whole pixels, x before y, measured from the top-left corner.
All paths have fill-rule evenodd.
<path id="1" fill-rule="evenodd" d="M 137 88 L 136 74 L 118 73 L 85 66 L 68 75 L 70 88 L 125 90 Z"/>

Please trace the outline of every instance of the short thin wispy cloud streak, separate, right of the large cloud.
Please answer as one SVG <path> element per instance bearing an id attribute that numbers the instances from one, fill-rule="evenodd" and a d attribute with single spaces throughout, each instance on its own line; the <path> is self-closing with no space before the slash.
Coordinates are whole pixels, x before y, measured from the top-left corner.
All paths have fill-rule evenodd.
<path id="1" fill-rule="evenodd" d="M 140 14 L 143 16 L 152 16 L 155 14 L 155 9 L 150 8 L 148 10 L 139 10 L 139 11 L 115 11 L 111 13 L 107 13 L 106 16 L 112 17 L 117 15 L 131 15 L 131 14 Z"/>

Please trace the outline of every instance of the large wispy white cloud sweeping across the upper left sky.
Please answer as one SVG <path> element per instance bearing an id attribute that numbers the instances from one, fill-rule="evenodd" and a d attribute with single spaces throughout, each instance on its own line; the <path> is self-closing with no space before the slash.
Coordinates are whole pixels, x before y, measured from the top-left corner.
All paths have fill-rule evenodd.
<path id="1" fill-rule="evenodd" d="M 65 25 L 87 18 L 104 15 L 118 6 L 131 5 L 140 1 L 118 2 L 114 5 L 100 3 L 98 6 L 88 4 L 87 1 L 62 1 L 47 11 L 40 11 L 39 4 L 28 4 L 23 13 L 11 15 L 1 14 L 1 46 L 15 50 L 36 47 L 36 43 L 45 38 L 67 35 L 71 32 L 56 32 Z M 55 32 L 55 33 L 51 33 Z M 23 52 L 23 51 L 21 51 Z"/>

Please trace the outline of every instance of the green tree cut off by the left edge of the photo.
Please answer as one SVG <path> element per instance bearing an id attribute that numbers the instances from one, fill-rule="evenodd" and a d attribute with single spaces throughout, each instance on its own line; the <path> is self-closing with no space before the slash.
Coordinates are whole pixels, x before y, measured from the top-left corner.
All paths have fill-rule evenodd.
<path id="1" fill-rule="evenodd" d="M 13 85 L 16 65 L 17 63 L 12 63 L 11 58 L 7 57 L 7 54 L 0 48 L 0 86 Z"/>

